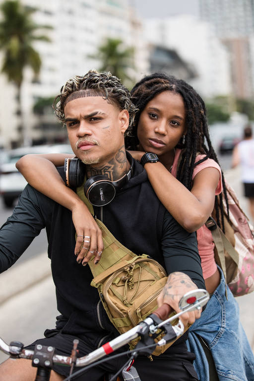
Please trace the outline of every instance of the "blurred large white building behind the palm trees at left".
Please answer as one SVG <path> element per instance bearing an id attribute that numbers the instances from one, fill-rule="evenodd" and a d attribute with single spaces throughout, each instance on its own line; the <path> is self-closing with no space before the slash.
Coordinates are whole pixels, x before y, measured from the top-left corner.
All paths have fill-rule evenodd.
<path id="1" fill-rule="evenodd" d="M 0 3 L 3 0 L 0 0 Z M 25 70 L 22 84 L 23 126 L 26 140 L 47 137 L 48 140 L 66 138 L 65 129 L 59 128 L 51 116 L 35 117 L 32 113 L 34 103 L 43 97 L 58 94 L 64 82 L 73 75 L 82 75 L 90 68 L 98 68 L 100 63 L 92 58 L 108 37 L 123 40 L 128 46 L 141 47 L 142 30 L 139 20 L 129 8 L 128 0 L 21 0 L 25 5 L 37 9 L 34 20 L 39 25 L 50 25 L 52 30 L 42 31 L 51 42 L 38 41 L 34 48 L 39 52 L 42 67 L 38 79 L 33 79 L 31 69 Z M 147 68 L 147 58 L 140 56 L 135 49 L 134 67 L 131 74 L 134 80 L 140 78 Z M 5 145 L 15 145 L 19 140 L 17 128 L 10 129 L 7 116 L 11 115 L 15 125 L 15 89 L 0 74 L 0 83 L 10 88 L 5 108 L 0 102 L 0 134 Z M 6 114 L 7 112 L 7 114 Z M 6 120 L 5 120 L 6 116 Z M 16 127 L 17 127 L 16 123 Z"/>

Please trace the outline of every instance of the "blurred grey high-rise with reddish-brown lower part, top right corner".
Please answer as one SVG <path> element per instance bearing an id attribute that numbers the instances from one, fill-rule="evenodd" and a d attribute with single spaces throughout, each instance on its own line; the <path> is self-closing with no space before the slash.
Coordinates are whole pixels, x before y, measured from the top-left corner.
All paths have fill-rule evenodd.
<path id="1" fill-rule="evenodd" d="M 226 46 L 231 65 L 233 94 L 251 98 L 254 94 L 254 0 L 199 0 L 201 20 L 214 27 L 214 34 Z"/>

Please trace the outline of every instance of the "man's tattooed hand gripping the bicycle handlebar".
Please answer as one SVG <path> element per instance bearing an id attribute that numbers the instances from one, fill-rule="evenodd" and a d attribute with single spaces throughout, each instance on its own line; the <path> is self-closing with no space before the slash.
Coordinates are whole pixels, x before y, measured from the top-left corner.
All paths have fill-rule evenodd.
<path id="1" fill-rule="evenodd" d="M 179 309 L 180 299 L 189 291 L 196 290 L 197 286 L 192 282 L 191 278 L 184 274 L 183 272 L 172 272 L 168 276 L 167 283 L 165 284 L 162 292 L 157 298 L 158 307 L 162 304 L 168 304 L 172 310 L 177 313 L 181 312 Z M 191 312 L 186 312 L 181 315 L 180 319 L 185 326 L 187 324 L 193 324 L 195 319 L 200 318 L 201 311 L 195 310 Z"/>

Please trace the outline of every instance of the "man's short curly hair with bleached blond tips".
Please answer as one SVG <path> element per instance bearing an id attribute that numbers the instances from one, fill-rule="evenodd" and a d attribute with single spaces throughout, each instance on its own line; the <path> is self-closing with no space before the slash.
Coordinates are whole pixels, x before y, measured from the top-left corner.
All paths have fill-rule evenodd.
<path id="1" fill-rule="evenodd" d="M 60 94 L 55 97 L 53 108 L 60 122 L 65 123 L 64 107 L 68 100 L 83 96 L 102 96 L 109 103 L 116 105 L 120 110 L 129 113 L 129 126 L 133 123 L 136 108 L 130 100 L 128 89 L 121 80 L 109 71 L 99 73 L 95 69 L 89 70 L 84 76 L 75 75 L 62 87 Z M 76 94 L 75 94 L 76 93 Z M 70 95 L 73 94 L 72 97 Z"/>

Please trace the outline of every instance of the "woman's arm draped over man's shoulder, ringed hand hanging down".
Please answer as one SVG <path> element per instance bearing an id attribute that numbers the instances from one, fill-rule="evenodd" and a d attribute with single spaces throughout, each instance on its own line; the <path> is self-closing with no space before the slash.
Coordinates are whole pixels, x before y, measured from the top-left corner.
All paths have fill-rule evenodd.
<path id="1" fill-rule="evenodd" d="M 72 158 L 73 156 L 71 154 L 29 154 L 17 161 L 16 168 L 37 191 L 42 192 L 72 212 L 72 220 L 78 236 L 74 251 L 77 255 L 77 261 L 81 262 L 86 253 L 86 261 L 92 256 L 83 249 L 83 246 L 87 246 L 83 243 L 82 237 L 89 236 L 89 250 L 96 253 L 94 259 L 96 262 L 100 259 L 99 253 L 103 251 L 101 230 L 87 206 L 74 191 L 65 186 L 56 169 L 56 166 L 64 165 L 66 157 Z"/>

